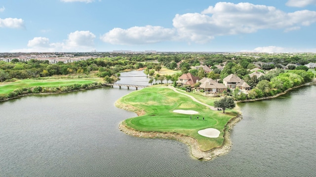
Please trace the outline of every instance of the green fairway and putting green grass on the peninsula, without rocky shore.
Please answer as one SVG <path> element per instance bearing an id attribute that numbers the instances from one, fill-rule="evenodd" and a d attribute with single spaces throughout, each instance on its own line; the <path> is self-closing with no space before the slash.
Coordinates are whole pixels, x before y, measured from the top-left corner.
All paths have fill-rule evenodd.
<path id="1" fill-rule="evenodd" d="M 222 146 L 225 125 L 231 118 L 237 116 L 234 110 L 228 110 L 227 114 L 212 111 L 188 96 L 168 88 L 154 87 L 133 91 L 120 98 L 117 105 L 133 107 L 134 112 L 146 112 L 143 116 L 126 119 L 127 126 L 141 131 L 175 132 L 190 136 L 197 139 L 202 150 Z M 174 110 L 193 110 L 198 114 L 186 115 L 174 113 Z M 216 128 L 221 134 L 218 138 L 207 138 L 197 133 L 198 130 L 205 128 Z"/>

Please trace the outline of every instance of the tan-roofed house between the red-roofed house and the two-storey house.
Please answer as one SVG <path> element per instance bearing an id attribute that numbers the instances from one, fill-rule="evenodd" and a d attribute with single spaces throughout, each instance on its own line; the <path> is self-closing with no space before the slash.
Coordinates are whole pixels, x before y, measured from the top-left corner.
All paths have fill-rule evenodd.
<path id="1" fill-rule="evenodd" d="M 203 78 L 198 82 L 201 83 L 199 88 L 204 89 L 204 91 L 212 91 L 212 92 L 223 92 L 224 90 L 227 91 L 227 87 L 224 84 L 218 83 L 211 78 Z"/>

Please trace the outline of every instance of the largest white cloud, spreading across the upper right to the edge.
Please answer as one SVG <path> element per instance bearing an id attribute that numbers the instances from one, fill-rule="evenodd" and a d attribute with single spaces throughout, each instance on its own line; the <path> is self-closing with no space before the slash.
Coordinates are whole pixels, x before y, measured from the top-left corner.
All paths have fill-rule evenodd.
<path id="1" fill-rule="evenodd" d="M 208 42 L 218 35 L 253 33 L 260 29 L 290 29 L 316 22 L 316 11 L 286 13 L 273 6 L 218 2 L 201 13 L 177 14 L 173 26 L 182 38 Z"/>

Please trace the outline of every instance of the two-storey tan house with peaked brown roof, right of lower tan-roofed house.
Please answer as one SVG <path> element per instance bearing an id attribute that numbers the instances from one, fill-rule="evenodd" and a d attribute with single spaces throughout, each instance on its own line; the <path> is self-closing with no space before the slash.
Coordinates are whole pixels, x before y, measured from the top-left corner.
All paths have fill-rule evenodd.
<path id="1" fill-rule="evenodd" d="M 238 76 L 231 74 L 223 79 L 223 84 L 229 89 L 250 90 L 250 86 Z"/>

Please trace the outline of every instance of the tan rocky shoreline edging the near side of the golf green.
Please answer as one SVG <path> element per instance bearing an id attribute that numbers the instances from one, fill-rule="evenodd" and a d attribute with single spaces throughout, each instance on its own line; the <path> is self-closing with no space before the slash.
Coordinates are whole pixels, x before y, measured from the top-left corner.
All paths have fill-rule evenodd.
<path id="1" fill-rule="evenodd" d="M 189 137 L 189 136 L 181 135 L 178 133 L 139 131 L 139 130 L 136 130 L 134 128 L 128 127 L 124 121 L 119 123 L 118 128 L 120 129 L 120 131 L 122 131 L 128 135 L 132 135 L 132 136 L 136 136 L 136 137 L 164 138 L 164 139 L 177 140 L 179 142 L 187 144 L 190 147 L 190 151 L 191 151 L 191 154 L 193 157 L 195 157 L 197 159 L 202 159 L 202 160 L 211 160 L 216 156 L 220 156 L 220 155 L 227 153 L 231 149 L 232 142 L 230 139 L 230 131 L 233 128 L 233 126 L 241 119 L 242 119 L 241 115 L 238 115 L 237 117 L 232 118 L 225 125 L 223 145 L 219 148 L 213 148 L 213 149 L 208 150 L 208 151 L 200 150 L 200 148 L 198 147 L 196 139 Z"/>

